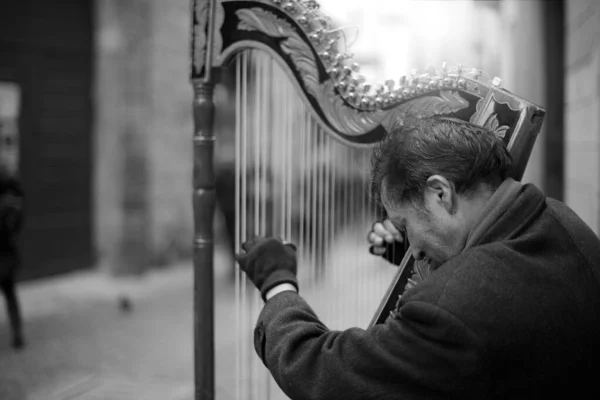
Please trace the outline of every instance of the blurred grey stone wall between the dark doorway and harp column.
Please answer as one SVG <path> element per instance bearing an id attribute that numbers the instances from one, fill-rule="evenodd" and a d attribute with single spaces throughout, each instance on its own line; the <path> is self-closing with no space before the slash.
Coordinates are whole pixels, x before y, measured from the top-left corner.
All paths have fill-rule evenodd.
<path id="1" fill-rule="evenodd" d="M 95 244 L 136 274 L 191 254 L 188 0 L 97 0 Z"/>

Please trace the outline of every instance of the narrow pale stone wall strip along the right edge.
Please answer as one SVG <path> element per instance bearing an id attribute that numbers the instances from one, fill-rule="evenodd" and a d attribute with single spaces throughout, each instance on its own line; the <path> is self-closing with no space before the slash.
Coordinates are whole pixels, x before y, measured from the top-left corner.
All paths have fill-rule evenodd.
<path id="1" fill-rule="evenodd" d="M 565 3 L 565 202 L 598 233 L 600 4 Z"/>

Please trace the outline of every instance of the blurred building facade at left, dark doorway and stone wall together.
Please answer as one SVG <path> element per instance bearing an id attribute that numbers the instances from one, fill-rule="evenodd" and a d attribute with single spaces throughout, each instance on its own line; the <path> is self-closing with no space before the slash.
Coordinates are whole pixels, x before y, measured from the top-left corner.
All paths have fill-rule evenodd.
<path id="1" fill-rule="evenodd" d="M 189 1 L 0 9 L 0 84 L 12 85 L 0 87 L 20 89 L 21 278 L 190 257 Z"/>

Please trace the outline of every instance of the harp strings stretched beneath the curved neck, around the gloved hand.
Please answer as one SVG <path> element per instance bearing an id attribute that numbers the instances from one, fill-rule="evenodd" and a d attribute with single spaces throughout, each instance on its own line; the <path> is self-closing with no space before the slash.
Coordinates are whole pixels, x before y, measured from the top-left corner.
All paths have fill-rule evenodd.
<path id="1" fill-rule="evenodd" d="M 255 234 L 293 241 L 301 294 L 323 322 L 366 328 L 395 272 L 367 253 L 370 150 L 329 135 L 270 56 L 243 51 L 234 66 L 236 250 Z M 254 352 L 260 295 L 240 271 L 235 285 L 236 398 L 285 399 Z"/>

